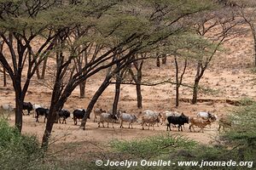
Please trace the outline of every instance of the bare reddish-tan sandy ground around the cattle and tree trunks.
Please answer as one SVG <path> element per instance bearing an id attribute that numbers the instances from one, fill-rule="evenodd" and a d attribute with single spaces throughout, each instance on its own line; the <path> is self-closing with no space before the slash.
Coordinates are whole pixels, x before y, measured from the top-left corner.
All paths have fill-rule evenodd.
<path id="1" fill-rule="evenodd" d="M 222 54 L 217 54 L 212 61 L 212 65 L 206 71 L 205 76 L 201 80 L 201 86 L 204 88 L 213 89 L 212 94 L 199 94 L 200 99 L 242 99 L 256 98 L 256 87 L 253 82 L 253 42 L 250 35 L 247 37 L 239 37 L 224 44 L 226 50 Z M 175 68 L 172 59 L 167 59 L 166 65 L 161 65 L 160 68 L 155 66 L 153 60 L 148 60 L 144 65 L 143 78 L 144 82 L 161 82 L 172 77 L 174 81 Z M 104 71 L 96 77 L 91 77 L 86 84 L 86 98 L 79 99 L 79 88 L 76 88 L 67 100 L 64 108 L 73 111 L 76 108 L 86 108 L 91 96 L 102 82 Z M 157 77 L 157 78 L 156 78 Z M 195 77 L 195 65 L 189 64 L 188 71 L 183 78 L 183 82 L 187 84 L 193 83 Z M 47 76 L 49 78 L 49 76 Z M 0 75 L 2 80 L 2 75 Z M 119 109 L 129 113 L 138 115 L 136 101 L 136 88 L 132 85 L 122 85 L 122 90 L 119 100 Z M 233 107 L 225 103 L 199 103 L 190 105 L 189 103 L 180 103 L 176 108 L 175 91 L 172 84 L 166 83 L 154 87 L 144 86 L 143 93 L 143 110 L 153 111 L 179 111 L 187 116 L 195 116 L 197 111 L 212 111 L 217 116 L 227 114 Z M 183 99 L 191 99 L 192 90 L 190 88 L 180 88 L 180 97 Z M 102 97 L 96 103 L 96 107 L 102 109 L 110 109 L 113 102 L 114 86 L 110 85 L 102 94 Z M 31 101 L 33 104 L 44 105 L 49 107 L 51 91 L 49 88 L 41 86 L 36 77 L 32 78 L 31 86 L 26 95 L 26 101 Z M 8 87 L 0 87 L 0 105 L 12 104 L 15 105 L 15 93 L 11 86 L 11 81 L 8 80 Z M 91 115 L 93 117 L 93 114 Z M 15 117 L 11 116 L 10 124 L 15 123 Z M 39 123 L 35 122 L 35 118 L 24 116 L 23 133 L 32 133 L 42 139 L 45 124 L 43 117 Z M 173 128 L 171 133 L 182 134 L 189 139 L 195 139 L 202 144 L 211 144 L 212 140 L 218 136 L 218 123 L 215 122 L 211 128 L 207 127 L 205 133 L 190 133 L 189 126 L 186 125 L 183 132 L 177 132 L 177 128 Z M 97 127 L 96 122 L 92 119 L 87 123 L 86 130 L 79 129 L 79 126 L 73 125 L 71 118 L 67 119 L 67 124 L 55 124 L 52 134 L 52 141 L 56 143 L 70 143 L 81 141 L 93 141 L 97 143 L 106 143 L 113 139 L 141 139 L 147 136 L 165 134 L 166 126 L 160 125 L 155 127 L 155 130 L 142 130 L 138 123 L 133 129 L 128 129 L 125 123 L 125 128 L 119 128 L 119 124 L 114 124 L 114 128 Z M 168 132 L 169 133 L 169 132 Z"/>

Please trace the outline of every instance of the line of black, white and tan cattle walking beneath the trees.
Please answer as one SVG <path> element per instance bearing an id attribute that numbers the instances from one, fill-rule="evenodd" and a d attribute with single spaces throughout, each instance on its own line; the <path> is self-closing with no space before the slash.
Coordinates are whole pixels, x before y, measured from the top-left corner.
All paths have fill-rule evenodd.
<path id="1" fill-rule="evenodd" d="M 11 105 L 2 105 L 2 109 L 6 111 L 13 111 L 14 108 Z M 30 102 L 24 102 L 23 104 L 23 110 L 27 111 L 27 115 L 30 115 L 31 111 L 34 110 L 35 112 L 35 118 L 36 122 L 38 121 L 39 116 L 44 116 L 44 122 L 45 119 L 47 119 L 47 116 L 49 115 L 49 109 L 42 107 L 41 105 L 32 105 Z M 23 113 L 24 115 L 24 113 Z M 65 109 L 62 109 L 61 111 L 58 111 L 56 122 L 60 123 L 67 123 L 66 120 L 68 117 L 70 117 L 72 114 L 70 111 L 67 111 Z M 84 109 L 76 109 L 73 111 L 73 122 L 74 125 L 78 124 L 78 120 L 82 119 L 85 115 Z M 96 108 L 94 110 L 94 120 L 93 122 L 98 123 L 98 127 L 104 126 L 104 122 L 107 122 L 107 124 L 117 123 L 119 122 L 120 128 L 124 127 L 124 122 L 128 123 L 128 128 L 133 128 L 132 124 L 134 122 L 140 122 L 142 125 L 142 129 L 144 130 L 144 127 L 147 126 L 152 127 L 154 129 L 154 125 L 159 126 L 159 123 L 161 125 L 166 125 L 166 130 L 172 130 L 172 127 L 177 127 L 178 131 L 183 131 L 183 126 L 185 123 L 189 124 L 189 130 L 190 132 L 195 132 L 194 127 L 200 127 L 200 131 L 203 133 L 203 129 L 207 126 L 211 126 L 212 122 L 215 122 L 218 120 L 218 130 L 223 127 L 230 127 L 231 122 L 226 116 L 221 116 L 218 118 L 216 115 L 208 112 L 198 112 L 196 116 L 185 116 L 183 113 L 178 113 L 176 111 L 163 111 L 163 112 L 156 112 L 156 111 L 143 111 L 140 112 L 139 115 L 141 115 L 141 119 L 139 120 L 137 116 L 133 114 L 126 113 L 125 111 L 118 111 L 117 114 L 113 114 L 113 111 L 105 111 L 102 109 Z M 90 118 L 90 117 L 89 117 Z M 61 122 L 62 121 L 62 122 Z M 107 125 L 108 126 L 108 125 Z"/>

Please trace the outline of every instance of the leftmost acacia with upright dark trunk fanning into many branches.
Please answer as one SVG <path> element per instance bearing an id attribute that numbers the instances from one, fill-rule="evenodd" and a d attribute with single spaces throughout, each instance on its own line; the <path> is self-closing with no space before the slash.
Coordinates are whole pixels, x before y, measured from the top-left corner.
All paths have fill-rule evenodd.
<path id="1" fill-rule="evenodd" d="M 53 48 L 55 35 L 48 30 L 49 18 L 41 14 L 55 1 L 3 1 L 0 3 L 0 37 L 3 47 L 0 63 L 9 73 L 15 89 L 15 126 L 21 132 L 22 106 L 32 76 Z M 32 46 L 39 42 L 39 47 Z M 24 70 L 25 65 L 27 71 Z M 23 77 L 25 75 L 25 77 Z"/>

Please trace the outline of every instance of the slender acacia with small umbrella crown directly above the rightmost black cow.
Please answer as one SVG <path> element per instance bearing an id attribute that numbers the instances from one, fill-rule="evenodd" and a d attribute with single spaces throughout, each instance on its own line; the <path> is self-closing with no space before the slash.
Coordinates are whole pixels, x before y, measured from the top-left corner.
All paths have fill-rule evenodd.
<path id="1" fill-rule="evenodd" d="M 175 65 L 175 82 L 174 84 L 176 93 L 176 107 L 179 105 L 179 88 L 181 86 L 188 86 L 183 84 L 183 76 L 186 72 L 188 62 L 194 61 L 196 57 L 201 54 L 205 54 L 205 50 L 201 46 L 212 48 L 211 42 L 202 39 L 201 37 L 192 34 L 191 32 L 183 32 L 182 34 L 176 34 L 175 36 L 166 38 L 163 41 L 164 46 L 157 48 L 158 53 L 163 56 L 169 56 L 174 59 Z M 172 77 L 171 77 L 172 78 Z M 170 78 L 170 79 L 171 79 Z M 167 81 L 170 82 L 170 81 Z"/>

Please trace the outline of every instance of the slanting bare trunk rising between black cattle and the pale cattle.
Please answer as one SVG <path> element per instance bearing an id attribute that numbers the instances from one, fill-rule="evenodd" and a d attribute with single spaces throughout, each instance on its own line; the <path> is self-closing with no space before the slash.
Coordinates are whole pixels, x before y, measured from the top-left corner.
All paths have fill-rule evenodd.
<path id="1" fill-rule="evenodd" d="M 85 125 L 87 122 L 87 118 L 90 117 L 90 112 L 92 111 L 94 105 L 96 104 L 96 101 L 99 99 L 99 97 L 102 95 L 102 93 L 104 92 L 104 90 L 106 88 L 108 88 L 109 85 L 109 81 L 111 79 L 111 76 L 107 76 L 104 80 L 104 82 L 102 82 L 102 85 L 100 86 L 100 88 L 98 88 L 98 90 L 96 91 L 96 93 L 93 95 L 92 99 L 90 99 L 90 103 L 87 106 L 86 109 L 86 114 L 84 115 L 84 118 L 81 121 L 81 128 L 83 128 L 85 130 Z"/>

